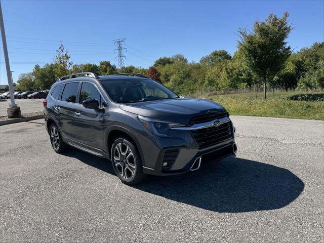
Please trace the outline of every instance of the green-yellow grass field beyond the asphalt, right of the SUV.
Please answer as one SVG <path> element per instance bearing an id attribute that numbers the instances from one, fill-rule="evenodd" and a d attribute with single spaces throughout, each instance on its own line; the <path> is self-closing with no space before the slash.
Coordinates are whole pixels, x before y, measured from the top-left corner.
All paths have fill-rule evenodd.
<path id="1" fill-rule="evenodd" d="M 324 101 L 289 100 L 297 95 L 311 95 L 322 97 L 324 92 L 268 92 L 267 100 L 263 100 L 263 93 L 242 93 L 229 95 L 214 95 L 205 97 L 222 104 L 231 115 L 268 116 L 299 119 L 324 120 Z"/>

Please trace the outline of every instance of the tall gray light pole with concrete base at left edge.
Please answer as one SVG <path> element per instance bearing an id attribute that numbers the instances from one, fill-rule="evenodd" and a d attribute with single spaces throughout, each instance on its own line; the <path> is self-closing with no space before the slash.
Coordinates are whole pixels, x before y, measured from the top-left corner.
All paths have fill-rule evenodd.
<path id="1" fill-rule="evenodd" d="M 9 104 L 9 107 L 7 108 L 7 114 L 8 114 L 8 118 L 18 118 L 21 116 L 21 112 L 20 112 L 20 107 L 15 104 L 14 85 L 12 83 L 12 75 L 10 71 L 7 41 L 6 41 L 6 34 L 5 34 L 5 25 L 4 25 L 4 18 L 2 15 L 1 2 L 0 2 L 0 28 L 1 28 L 1 36 L 2 36 L 2 45 L 4 47 L 4 56 L 6 62 L 8 85 L 9 85 L 10 100 L 11 100 L 11 104 Z"/>

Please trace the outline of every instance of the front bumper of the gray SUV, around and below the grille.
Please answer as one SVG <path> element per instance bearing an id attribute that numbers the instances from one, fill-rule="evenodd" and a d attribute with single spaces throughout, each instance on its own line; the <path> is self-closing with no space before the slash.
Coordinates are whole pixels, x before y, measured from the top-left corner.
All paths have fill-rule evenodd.
<path id="1" fill-rule="evenodd" d="M 237 148 L 234 141 L 234 127 L 231 121 L 229 123 L 231 137 L 206 148 L 199 148 L 192 133 L 188 130 L 172 131 L 172 138 L 156 137 L 156 143 L 153 144 L 142 138 L 144 141 L 140 141 L 140 144 L 144 142 L 147 146 L 150 145 L 150 148 L 142 150 L 143 165 L 145 165 L 143 172 L 158 176 L 177 175 L 194 171 L 235 154 Z M 138 139 L 141 140 L 141 136 Z M 164 163 L 169 161 L 171 161 L 170 166 L 165 167 Z"/>

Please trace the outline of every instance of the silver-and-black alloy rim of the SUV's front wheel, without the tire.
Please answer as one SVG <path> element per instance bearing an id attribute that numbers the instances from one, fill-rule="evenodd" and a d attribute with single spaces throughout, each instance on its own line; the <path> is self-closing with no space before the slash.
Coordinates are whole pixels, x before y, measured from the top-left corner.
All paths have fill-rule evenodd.
<path id="1" fill-rule="evenodd" d="M 118 143 L 113 151 L 115 167 L 121 177 L 130 180 L 135 175 L 136 162 L 131 148 L 125 143 Z"/>

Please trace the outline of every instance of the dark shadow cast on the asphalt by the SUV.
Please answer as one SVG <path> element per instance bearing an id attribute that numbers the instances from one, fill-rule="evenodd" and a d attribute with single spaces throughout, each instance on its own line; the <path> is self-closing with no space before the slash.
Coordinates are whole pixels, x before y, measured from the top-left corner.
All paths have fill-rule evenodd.
<path id="1" fill-rule="evenodd" d="M 114 175 L 108 159 L 77 149 L 70 149 L 64 155 Z M 150 176 L 134 188 L 201 209 L 238 213 L 285 207 L 300 195 L 304 183 L 287 169 L 227 157 L 195 172 Z"/>

